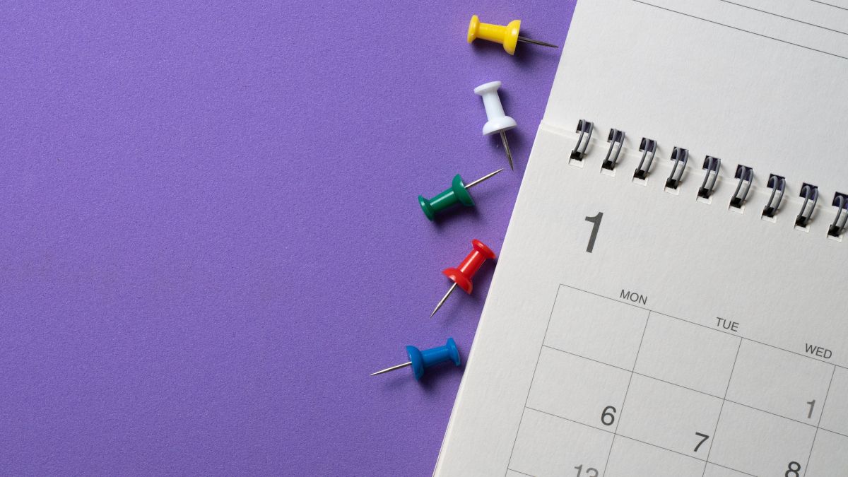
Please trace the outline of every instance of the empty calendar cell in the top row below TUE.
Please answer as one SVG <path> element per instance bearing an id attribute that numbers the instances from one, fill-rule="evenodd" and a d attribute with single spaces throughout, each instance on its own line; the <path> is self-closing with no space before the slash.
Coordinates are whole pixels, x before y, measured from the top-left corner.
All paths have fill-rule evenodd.
<path id="1" fill-rule="evenodd" d="M 636 372 L 723 397 L 741 338 L 652 313 Z"/>

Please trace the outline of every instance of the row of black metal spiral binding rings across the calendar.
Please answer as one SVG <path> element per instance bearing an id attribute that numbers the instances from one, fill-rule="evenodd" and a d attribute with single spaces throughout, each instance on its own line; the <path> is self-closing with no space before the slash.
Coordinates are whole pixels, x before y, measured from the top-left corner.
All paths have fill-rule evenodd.
<path id="1" fill-rule="evenodd" d="M 592 137 L 594 124 L 591 121 L 580 120 L 577 122 L 575 132 L 579 134 L 577 144 L 572 149 L 570 159 L 582 161 L 586 157 L 586 149 L 589 147 L 589 139 Z M 610 129 L 606 141 L 610 143 L 609 149 L 606 151 L 606 156 L 601 168 L 612 171 L 615 169 L 619 155 L 624 147 L 624 138 L 626 133 L 618 129 Z M 645 180 L 650 174 L 650 166 L 656 155 L 657 143 L 654 139 L 642 137 L 639 142 L 639 152 L 642 153 L 642 158 L 639 160 L 639 166 L 633 171 L 633 178 Z M 672 149 L 671 157 L 674 162 L 672 171 L 666 179 L 666 188 L 677 190 L 680 183 L 683 181 L 683 172 L 686 170 L 686 165 L 689 162 L 689 150 L 675 146 Z M 711 155 L 704 158 L 702 170 L 704 178 L 698 188 L 698 197 L 709 200 L 716 188 L 719 173 L 722 167 L 722 160 Z M 729 206 L 734 209 L 741 209 L 748 199 L 750 187 L 754 183 L 754 170 L 748 166 L 739 164 L 736 166 L 734 178 L 737 179 L 736 189 L 731 196 Z M 781 202 L 784 199 L 786 191 L 786 178 L 776 174 L 769 174 L 766 182 L 766 188 L 772 189 L 768 197 L 766 205 L 762 208 L 762 217 L 772 219 L 778 214 Z M 801 194 L 799 197 L 804 198 L 801 204 L 801 210 L 795 216 L 795 227 L 806 228 L 812 221 L 812 216 L 816 211 L 818 204 L 818 188 L 812 184 L 803 183 L 801 186 Z M 828 237 L 841 239 L 848 228 L 848 194 L 837 192 L 834 194 L 832 205 L 836 208 L 836 213 L 833 222 L 828 227 Z"/>

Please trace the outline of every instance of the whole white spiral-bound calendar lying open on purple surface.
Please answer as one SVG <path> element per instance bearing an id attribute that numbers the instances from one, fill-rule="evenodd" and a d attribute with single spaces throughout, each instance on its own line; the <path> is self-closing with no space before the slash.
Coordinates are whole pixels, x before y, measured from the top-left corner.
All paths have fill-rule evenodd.
<path id="1" fill-rule="evenodd" d="M 848 476 L 840 25 L 577 3 L 434 474 Z"/>

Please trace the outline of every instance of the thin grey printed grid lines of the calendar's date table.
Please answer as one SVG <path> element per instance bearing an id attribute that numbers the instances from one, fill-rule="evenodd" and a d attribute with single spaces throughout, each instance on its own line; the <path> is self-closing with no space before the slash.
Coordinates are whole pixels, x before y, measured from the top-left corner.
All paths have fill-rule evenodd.
<path id="1" fill-rule="evenodd" d="M 618 303 L 618 304 L 633 306 L 634 308 L 638 308 L 639 310 L 647 311 L 647 317 L 644 317 L 644 327 L 642 328 L 642 333 L 641 333 L 641 337 L 640 337 L 640 340 L 639 340 L 639 346 L 638 346 L 638 348 L 636 348 L 636 354 L 635 354 L 635 357 L 633 358 L 633 368 L 632 369 L 623 368 L 622 366 L 616 366 L 616 365 L 608 363 L 608 362 L 601 362 L 601 361 L 598 361 L 596 359 L 592 359 L 590 357 L 582 356 L 580 354 L 574 353 L 572 351 L 562 350 L 562 349 L 559 349 L 555 346 L 545 344 L 546 341 L 548 340 L 548 334 L 549 334 L 549 331 L 550 331 L 550 323 L 551 323 L 552 317 L 554 316 L 554 311 L 556 309 L 556 302 L 557 302 L 557 299 L 560 296 L 560 290 L 562 289 L 562 287 L 566 287 L 566 288 L 569 288 L 569 289 L 580 291 L 580 292 L 583 292 L 583 293 L 586 293 L 586 294 L 589 294 L 589 295 L 595 295 L 595 296 L 598 296 L 598 297 L 603 298 L 605 300 L 611 300 L 612 302 L 615 302 L 615 303 Z M 649 328 L 652 314 L 656 314 L 657 316 L 661 316 L 661 317 L 672 318 L 673 320 L 677 320 L 677 321 L 682 322 L 682 323 L 694 324 L 694 325 L 699 326 L 701 328 L 710 329 L 713 332 L 719 332 L 719 333 L 722 333 L 722 334 L 734 336 L 734 338 L 737 338 L 739 340 L 739 343 L 737 345 L 737 349 L 736 349 L 736 352 L 735 352 L 735 356 L 734 356 L 734 362 L 733 362 L 732 366 L 730 367 L 730 373 L 728 375 L 728 381 L 727 381 L 727 384 L 725 384 L 725 390 L 724 390 L 723 396 L 716 396 L 716 395 L 711 394 L 709 392 L 706 392 L 704 390 L 696 390 L 696 389 L 693 389 L 689 386 L 685 386 L 683 384 L 672 383 L 672 382 L 667 381 L 665 379 L 660 379 L 660 378 L 657 378 L 655 376 L 650 376 L 649 374 L 639 373 L 639 372 L 636 371 L 637 363 L 639 363 L 639 355 L 640 355 L 642 348 L 643 348 L 645 334 L 646 334 L 646 332 Z M 636 329 L 633 329 L 633 332 L 638 332 L 638 331 Z M 633 334 L 635 334 L 635 333 L 633 333 Z M 693 323 L 693 322 L 690 322 L 690 321 L 682 319 L 682 318 L 667 315 L 666 313 L 661 313 L 659 311 L 650 310 L 650 309 L 645 308 L 643 306 L 633 305 L 632 303 L 628 303 L 626 301 L 620 301 L 620 300 L 616 300 L 616 299 L 613 299 L 613 298 L 605 297 L 603 295 L 598 295 L 598 294 L 594 294 L 594 293 L 591 293 L 591 292 L 587 292 L 585 290 L 577 289 L 575 287 L 571 287 L 569 285 L 562 284 L 562 283 L 557 288 L 557 292 L 556 292 L 555 299 L 554 299 L 554 305 L 551 307 L 550 315 L 548 317 L 548 323 L 546 324 L 545 331 L 544 331 L 544 337 L 543 337 L 542 341 L 543 341 L 543 344 L 541 346 L 539 346 L 539 352 L 538 352 L 538 356 L 537 356 L 537 359 L 536 359 L 536 364 L 535 364 L 535 367 L 533 368 L 533 374 L 532 374 L 532 377 L 531 377 L 530 385 L 528 386 L 528 389 L 527 389 L 527 396 L 525 398 L 524 407 L 522 408 L 522 416 L 519 420 L 518 429 L 516 429 L 516 437 L 513 440 L 512 449 L 510 451 L 510 458 L 507 461 L 507 469 L 505 471 L 506 473 L 513 471 L 513 472 L 516 472 L 516 473 L 519 473 L 519 474 L 529 475 L 529 474 L 525 474 L 522 471 L 519 471 L 519 470 L 512 468 L 512 459 L 513 459 L 513 456 L 516 452 L 516 442 L 518 441 L 518 435 L 521 432 L 522 424 L 525 420 L 527 409 L 529 409 L 533 412 L 539 412 L 541 414 L 548 415 L 548 416 L 553 417 L 553 418 L 563 419 L 563 420 L 568 421 L 568 422 L 573 423 L 573 424 L 581 424 L 581 425 L 586 426 L 588 428 L 600 430 L 600 431 L 605 432 L 606 434 L 611 434 L 612 439 L 611 439 L 611 442 L 610 442 L 609 451 L 607 452 L 607 455 L 606 455 L 606 461 L 605 461 L 605 464 L 604 464 L 604 469 L 603 469 L 602 475 L 605 475 L 606 470 L 609 467 L 611 455 L 612 455 L 612 450 L 613 450 L 613 447 L 615 446 L 616 439 L 619 438 L 619 437 L 622 437 L 622 438 L 624 438 L 628 441 L 639 442 L 639 443 L 647 445 L 647 446 L 652 446 L 652 447 L 655 447 L 655 448 L 658 448 L 658 449 L 661 449 L 661 450 L 664 450 L 664 451 L 667 451 L 667 452 L 673 452 L 675 454 L 678 454 L 678 455 L 681 455 L 681 456 L 684 456 L 684 457 L 689 457 L 691 459 L 695 459 L 696 461 L 700 461 L 700 462 L 704 463 L 704 468 L 702 469 L 702 475 L 706 474 L 706 469 L 708 467 L 708 464 L 715 465 L 715 466 L 723 468 L 723 469 L 733 470 L 733 471 L 739 472 L 741 474 L 753 475 L 753 474 L 749 474 L 749 473 L 742 471 L 742 470 L 739 470 L 739 469 L 734 469 L 732 467 L 728 467 L 727 465 L 723 465 L 721 463 L 716 463 L 716 462 L 710 461 L 711 452 L 713 450 L 712 444 L 713 444 L 713 442 L 715 442 L 715 438 L 716 438 L 716 435 L 717 435 L 719 425 L 722 422 L 722 415 L 724 415 L 726 413 L 725 403 L 731 402 L 734 405 L 737 405 L 739 407 L 749 408 L 749 409 L 757 411 L 757 412 L 764 412 L 766 414 L 776 416 L 778 418 L 784 418 L 786 420 L 789 420 L 789 421 L 792 421 L 792 422 L 795 422 L 795 423 L 798 423 L 798 424 L 805 424 L 806 426 L 815 428 L 816 429 L 815 434 L 812 437 L 812 443 L 810 444 L 810 451 L 809 451 L 809 454 L 807 456 L 806 465 L 805 465 L 805 468 L 804 468 L 803 474 L 802 474 L 802 475 L 806 475 L 806 470 L 807 470 L 807 468 L 810 464 L 810 459 L 812 457 L 813 446 L 815 445 L 816 436 L 818 434 L 818 429 L 825 429 L 825 428 L 822 428 L 820 426 L 822 424 L 821 421 L 822 421 L 822 417 L 823 417 L 824 406 L 827 404 L 827 401 L 828 401 L 828 395 L 829 395 L 829 392 L 830 392 L 830 384 L 833 384 L 834 374 L 835 374 L 836 368 L 845 368 L 845 367 L 836 365 L 832 362 L 824 362 L 824 361 L 819 360 L 819 359 L 817 359 L 813 356 L 806 356 L 806 355 L 803 355 L 801 353 L 797 353 L 797 352 L 794 352 L 794 351 L 784 350 L 783 348 L 780 348 L 778 346 L 767 345 L 767 344 L 762 343 L 762 342 L 757 341 L 757 340 L 747 339 L 745 337 L 739 336 L 739 334 L 732 334 L 732 333 L 728 333 L 726 331 L 723 331 L 722 329 L 711 328 L 711 327 L 702 325 L 700 323 Z M 734 377 L 734 371 L 736 370 L 736 365 L 737 365 L 737 362 L 739 361 L 739 352 L 742 349 L 742 345 L 745 341 L 750 341 L 751 343 L 755 343 L 757 345 L 764 345 L 764 346 L 767 346 L 769 348 L 773 348 L 773 349 L 780 350 L 780 351 L 785 351 L 785 352 L 791 353 L 791 354 L 796 355 L 796 356 L 802 356 L 802 357 L 805 357 L 807 359 L 811 359 L 815 362 L 823 362 L 823 363 L 826 363 L 826 364 L 830 365 L 831 367 L 833 367 L 832 373 L 831 373 L 831 376 L 830 376 L 830 383 L 828 384 L 827 392 L 825 393 L 824 398 L 823 398 L 822 408 L 819 411 L 820 414 L 819 414 L 818 419 L 817 419 L 817 424 L 806 423 L 806 422 L 803 422 L 803 421 L 795 419 L 795 418 L 789 418 L 788 416 L 778 414 L 776 412 L 770 412 L 770 411 L 767 411 L 765 409 L 759 409 L 757 407 L 750 406 L 749 404 L 745 404 L 743 402 L 737 402 L 737 401 L 728 399 L 728 391 L 730 390 L 730 386 L 731 386 L 731 383 L 732 383 L 732 380 L 733 380 L 733 377 Z M 635 340 L 633 340 L 633 344 L 635 344 Z M 621 401 L 620 410 L 619 410 L 619 412 L 618 412 L 618 414 L 615 418 L 615 420 L 616 420 L 615 428 L 613 428 L 613 429 L 603 429 L 601 427 L 596 427 L 592 424 L 586 424 L 585 422 L 580 422 L 580 421 L 577 421 L 577 420 L 574 420 L 574 419 L 571 419 L 571 418 L 566 418 L 566 417 L 558 415 L 554 412 L 547 412 L 547 411 L 544 411 L 542 409 L 538 409 L 536 407 L 532 407 L 532 406 L 529 405 L 530 396 L 531 396 L 531 394 L 533 394 L 533 383 L 536 381 L 539 363 L 541 362 L 542 354 L 543 354 L 543 351 L 544 351 L 545 348 L 549 349 L 550 351 L 562 353 L 562 354 L 567 355 L 567 356 L 574 356 L 574 357 L 577 357 L 577 358 L 580 358 L 580 359 L 583 359 L 583 360 L 587 360 L 589 362 L 594 362 L 594 363 L 604 365 L 605 367 L 615 368 L 616 370 L 620 370 L 620 371 L 623 371 L 623 372 L 626 372 L 626 373 L 630 373 L 628 380 L 627 380 L 627 387 L 624 390 L 624 397 L 622 398 L 622 401 Z M 728 351 L 730 351 L 730 350 L 728 350 Z M 730 352 L 732 352 L 732 351 L 730 351 Z M 729 362 L 729 360 L 728 360 L 728 362 Z M 626 365 L 626 363 L 620 363 L 620 364 Z M 644 366 L 642 368 L 644 368 Z M 848 369 L 848 368 L 846 368 L 846 369 Z M 627 403 L 628 395 L 630 394 L 631 385 L 633 384 L 633 375 L 644 377 L 646 379 L 649 379 L 650 381 L 658 381 L 658 382 L 661 382 L 661 383 L 664 383 L 664 384 L 670 384 L 672 386 L 676 386 L 676 387 L 682 388 L 684 390 L 695 391 L 696 393 L 700 393 L 700 395 L 710 396 L 711 398 L 721 400 L 721 405 L 718 409 L 718 414 L 717 414 L 717 418 L 716 418 L 716 424 L 715 424 L 715 427 L 713 428 L 712 435 L 709 436 L 710 444 L 709 444 L 709 447 L 707 449 L 706 458 L 695 457 L 695 456 L 693 456 L 689 453 L 678 452 L 678 451 L 675 451 L 674 449 L 669 449 L 665 446 L 657 445 L 656 443 L 643 441 L 641 439 L 636 439 L 633 436 L 624 435 L 624 434 L 619 432 L 619 429 L 618 429 L 619 423 L 621 422 L 622 417 L 624 416 L 624 413 L 623 413 L 624 407 Z M 743 373 L 743 375 L 745 375 L 745 373 Z M 544 379 L 543 379 L 543 381 L 544 381 Z M 823 385 L 823 383 L 822 383 L 822 385 Z M 623 387 L 623 383 L 622 383 L 622 387 Z M 544 389 L 544 386 L 543 386 L 543 389 Z M 615 412 L 615 411 L 613 411 L 613 412 Z M 811 407 L 811 414 L 812 414 L 812 407 Z M 533 419 L 531 419 L 531 421 L 532 420 Z M 606 423 L 604 423 L 604 424 L 608 425 Z M 827 429 L 827 430 L 828 430 L 828 432 L 832 432 L 835 435 L 843 435 L 843 434 L 840 434 L 839 432 L 835 432 L 835 431 L 832 431 L 830 429 Z M 843 435 L 843 436 L 848 437 L 848 435 Z M 696 447 L 696 450 L 697 450 L 697 447 Z M 578 472 L 578 474 L 579 474 L 579 472 Z"/>

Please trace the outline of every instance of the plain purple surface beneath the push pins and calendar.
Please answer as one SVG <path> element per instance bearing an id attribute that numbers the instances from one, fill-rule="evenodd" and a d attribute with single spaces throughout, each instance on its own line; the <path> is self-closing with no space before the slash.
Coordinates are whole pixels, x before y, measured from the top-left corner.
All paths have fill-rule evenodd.
<path id="1" fill-rule="evenodd" d="M 5 3 L 0 473 L 426 475 L 561 50 L 466 44 L 471 14 L 562 44 L 572 2 Z M 516 171 L 472 89 L 504 81 Z"/>

